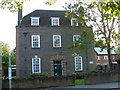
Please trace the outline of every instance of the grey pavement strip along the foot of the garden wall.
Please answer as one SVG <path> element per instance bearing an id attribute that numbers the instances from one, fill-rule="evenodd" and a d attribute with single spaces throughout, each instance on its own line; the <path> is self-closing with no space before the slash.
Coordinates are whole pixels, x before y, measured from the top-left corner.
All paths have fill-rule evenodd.
<path id="1" fill-rule="evenodd" d="M 102 83 L 95 85 L 61 86 L 39 90 L 120 90 L 120 82 Z"/>

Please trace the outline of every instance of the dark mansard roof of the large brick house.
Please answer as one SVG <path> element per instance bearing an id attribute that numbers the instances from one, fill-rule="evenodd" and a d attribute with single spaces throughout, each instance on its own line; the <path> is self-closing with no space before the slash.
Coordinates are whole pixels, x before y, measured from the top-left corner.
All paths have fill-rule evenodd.
<path id="1" fill-rule="evenodd" d="M 31 17 L 40 17 L 40 25 L 51 25 L 51 17 L 60 18 L 60 26 L 70 26 L 70 20 L 65 18 L 66 11 L 59 10 L 35 10 L 24 16 L 21 25 L 30 25 Z"/>

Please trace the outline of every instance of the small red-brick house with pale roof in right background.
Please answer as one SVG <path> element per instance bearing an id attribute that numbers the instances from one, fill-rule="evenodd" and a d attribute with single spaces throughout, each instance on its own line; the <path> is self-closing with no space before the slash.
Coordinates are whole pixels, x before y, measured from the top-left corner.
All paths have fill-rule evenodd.
<path id="1" fill-rule="evenodd" d="M 111 50 L 111 61 L 113 65 L 113 69 L 117 69 L 117 60 L 118 55 L 114 49 Z M 108 53 L 106 49 L 101 49 L 100 47 L 95 47 L 95 61 L 97 69 L 99 70 L 107 70 L 109 61 L 108 61 Z"/>

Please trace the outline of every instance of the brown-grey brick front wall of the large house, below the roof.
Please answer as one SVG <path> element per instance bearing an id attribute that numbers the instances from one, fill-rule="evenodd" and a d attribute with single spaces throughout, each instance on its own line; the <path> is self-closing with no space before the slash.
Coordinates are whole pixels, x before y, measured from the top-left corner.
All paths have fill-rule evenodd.
<path id="1" fill-rule="evenodd" d="M 91 29 L 91 28 L 90 28 Z M 27 32 L 27 35 L 23 35 L 23 32 Z M 73 35 L 81 34 L 82 30 L 79 27 L 31 27 L 31 26 L 18 26 L 16 27 L 16 65 L 17 78 L 28 78 L 32 74 L 31 60 L 35 56 L 41 58 L 41 71 L 47 72 L 53 76 L 53 61 L 57 58 L 61 61 L 63 67 L 63 75 L 72 75 L 75 72 L 74 69 L 74 57 L 72 53 L 76 50 L 69 50 L 68 46 L 72 44 Z M 38 49 L 31 48 L 31 35 L 41 36 L 41 47 Z M 52 46 L 53 35 L 60 34 L 62 37 L 62 47 L 54 48 Z M 26 48 L 25 48 L 26 46 Z M 94 45 L 91 45 L 88 50 L 88 56 L 85 50 L 79 53 L 83 57 L 83 72 L 87 72 L 87 63 L 94 61 Z M 55 60 L 54 60 L 55 58 Z M 88 58 L 88 60 L 86 60 Z M 88 64 L 89 71 L 95 69 L 94 64 Z"/>

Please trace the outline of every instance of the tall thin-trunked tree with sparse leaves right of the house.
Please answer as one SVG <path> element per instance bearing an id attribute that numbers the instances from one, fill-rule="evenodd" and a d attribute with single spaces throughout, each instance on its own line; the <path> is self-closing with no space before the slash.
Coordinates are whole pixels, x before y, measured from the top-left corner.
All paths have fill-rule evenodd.
<path id="1" fill-rule="evenodd" d="M 110 50 L 113 48 L 113 44 L 115 44 L 118 36 L 115 27 L 117 23 L 116 16 L 118 16 L 119 12 L 118 9 L 115 10 L 112 7 L 114 5 L 116 5 L 114 2 L 92 2 L 89 4 L 78 1 L 74 4 L 67 4 L 67 7 L 65 7 L 68 10 L 67 17 L 77 18 L 81 26 L 85 26 L 85 23 L 87 23 L 87 25 L 92 25 L 96 28 L 96 38 L 105 43 L 102 48 L 107 49 L 110 70 L 112 70 Z M 109 6 L 111 6 L 111 9 Z M 83 8 L 84 10 L 82 10 Z"/>

